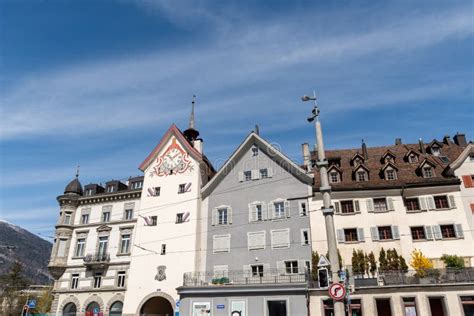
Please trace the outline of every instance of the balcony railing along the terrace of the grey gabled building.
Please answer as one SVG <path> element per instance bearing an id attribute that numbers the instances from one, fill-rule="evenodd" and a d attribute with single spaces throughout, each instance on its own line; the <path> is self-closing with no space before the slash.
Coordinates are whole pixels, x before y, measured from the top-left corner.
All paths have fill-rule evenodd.
<path id="1" fill-rule="evenodd" d="M 290 273 L 293 272 L 293 273 Z M 287 271 L 286 269 L 267 269 L 263 273 L 251 271 L 188 272 L 184 274 L 184 286 L 232 286 L 307 283 L 305 268 Z"/>

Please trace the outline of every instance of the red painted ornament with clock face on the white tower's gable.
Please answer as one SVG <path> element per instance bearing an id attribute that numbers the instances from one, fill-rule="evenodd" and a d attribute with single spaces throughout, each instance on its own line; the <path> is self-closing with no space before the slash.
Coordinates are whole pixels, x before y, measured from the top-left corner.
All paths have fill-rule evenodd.
<path id="1" fill-rule="evenodd" d="M 157 158 L 156 162 L 157 164 L 151 171 L 150 176 L 157 175 L 158 177 L 163 177 L 192 170 L 189 154 L 179 146 L 176 138 L 173 138 L 171 145 L 163 155 Z"/>

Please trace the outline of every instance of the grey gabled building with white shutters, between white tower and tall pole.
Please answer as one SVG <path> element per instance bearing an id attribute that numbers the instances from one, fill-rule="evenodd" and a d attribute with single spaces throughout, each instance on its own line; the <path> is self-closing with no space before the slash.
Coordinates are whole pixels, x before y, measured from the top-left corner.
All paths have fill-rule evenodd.
<path id="1" fill-rule="evenodd" d="M 202 189 L 183 315 L 307 315 L 313 178 L 251 133 Z"/>

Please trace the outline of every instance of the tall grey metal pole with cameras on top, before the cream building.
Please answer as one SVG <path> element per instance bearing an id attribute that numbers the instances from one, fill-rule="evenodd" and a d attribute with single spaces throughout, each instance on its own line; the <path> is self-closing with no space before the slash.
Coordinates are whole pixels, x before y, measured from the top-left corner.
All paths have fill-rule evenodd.
<path id="1" fill-rule="evenodd" d="M 313 91 L 313 97 L 307 95 L 301 98 L 303 102 L 314 101 L 314 107 L 311 111 L 312 115 L 308 118 L 308 122 L 315 121 L 316 143 L 318 149 L 318 161 L 316 166 L 321 176 L 321 187 L 319 191 L 323 195 L 323 215 L 326 224 L 326 238 L 328 241 L 329 261 L 331 262 L 332 282 L 339 283 L 339 256 L 337 254 L 336 233 L 334 230 L 334 208 L 331 206 L 331 187 L 328 179 L 328 161 L 324 153 L 323 132 L 321 131 L 321 123 L 319 122 L 319 109 L 316 104 L 316 92 Z M 344 302 L 333 299 L 334 316 L 344 316 Z"/>

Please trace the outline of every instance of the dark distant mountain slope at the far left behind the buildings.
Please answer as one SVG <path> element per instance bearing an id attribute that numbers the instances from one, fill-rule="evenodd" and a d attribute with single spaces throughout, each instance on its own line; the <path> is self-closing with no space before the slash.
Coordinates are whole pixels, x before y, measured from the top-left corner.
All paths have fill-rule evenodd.
<path id="1" fill-rule="evenodd" d="M 0 220 L 0 245 L 15 246 L 15 249 L 0 247 L 0 275 L 8 273 L 11 264 L 18 260 L 23 265 L 26 277 L 33 284 L 50 284 L 48 261 L 52 244 L 16 225 Z"/>

